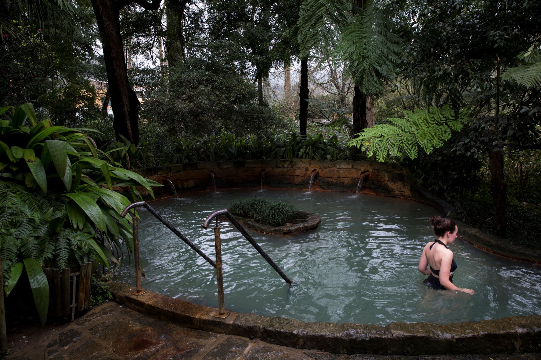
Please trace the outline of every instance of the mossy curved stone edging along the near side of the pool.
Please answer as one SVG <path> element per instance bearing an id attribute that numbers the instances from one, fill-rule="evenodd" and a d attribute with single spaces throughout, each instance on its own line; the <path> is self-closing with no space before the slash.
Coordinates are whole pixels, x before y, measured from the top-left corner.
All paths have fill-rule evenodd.
<path id="1" fill-rule="evenodd" d="M 436 355 L 541 352 L 541 316 L 434 323 L 301 322 L 283 317 L 231 312 L 214 317 L 216 308 L 197 305 L 147 290 L 132 294 L 127 284 L 107 283 L 115 301 L 148 316 L 204 331 L 257 338 L 272 344 L 337 354 Z"/>

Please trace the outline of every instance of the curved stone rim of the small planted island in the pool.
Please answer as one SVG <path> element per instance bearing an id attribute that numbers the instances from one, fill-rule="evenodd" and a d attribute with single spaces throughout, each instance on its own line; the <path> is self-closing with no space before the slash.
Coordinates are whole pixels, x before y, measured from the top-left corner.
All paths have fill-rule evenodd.
<path id="1" fill-rule="evenodd" d="M 245 225 L 247 228 L 250 228 L 260 233 L 273 235 L 298 235 L 317 228 L 318 225 L 321 223 L 321 218 L 314 213 L 296 210 L 295 215 L 297 216 L 297 219 L 302 220 L 302 222 L 287 222 L 286 225 L 282 226 L 263 225 L 251 218 L 244 218 L 243 216 L 236 215 L 234 216 L 237 221 L 242 223 L 242 225 Z M 227 218 L 225 216 L 220 216 L 220 219 L 227 221 Z"/>

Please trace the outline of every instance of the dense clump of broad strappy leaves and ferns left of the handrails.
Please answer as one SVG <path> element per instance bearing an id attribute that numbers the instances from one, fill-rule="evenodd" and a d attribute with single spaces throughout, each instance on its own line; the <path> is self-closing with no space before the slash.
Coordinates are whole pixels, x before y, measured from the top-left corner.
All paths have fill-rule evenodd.
<path id="1" fill-rule="evenodd" d="M 26 269 L 38 315 L 47 319 L 49 287 L 42 265 L 96 259 L 109 268 L 122 243 L 133 249 L 129 219 L 120 216 L 135 186 L 152 196 L 157 182 L 108 159 L 81 128 L 38 121 L 32 104 L 0 107 L 0 256 L 9 295 Z M 113 191 L 128 187 L 129 193 Z"/>

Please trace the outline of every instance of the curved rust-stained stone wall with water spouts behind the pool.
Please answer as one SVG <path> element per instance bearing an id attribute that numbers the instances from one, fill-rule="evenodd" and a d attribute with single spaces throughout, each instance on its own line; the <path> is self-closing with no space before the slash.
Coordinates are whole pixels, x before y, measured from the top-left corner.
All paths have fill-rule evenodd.
<path id="1" fill-rule="evenodd" d="M 155 189 L 156 198 L 173 195 L 167 186 L 170 180 L 177 193 L 214 189 L 263 188 L 308 189 L 314 173 L 312 189 L 355 192 L 359 178 L 365 177 L 360 192 L 424 200 L 414 186 L 410 173 L 400 164 L 368 161 L 321 160 L 234 160 L 199 161 L 183 165 L 146 168 L 137 171 L 146 178 L 166 186 Z"/>

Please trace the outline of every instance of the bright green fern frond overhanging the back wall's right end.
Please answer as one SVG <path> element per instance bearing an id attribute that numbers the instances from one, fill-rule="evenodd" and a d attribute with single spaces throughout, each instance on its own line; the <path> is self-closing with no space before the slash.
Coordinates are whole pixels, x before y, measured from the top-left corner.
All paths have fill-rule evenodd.
<path id="1" fill-rule="evenodd" d="M 456 112 L 448 105 L 441 109 L 431 107 L 428 111 L 405 111 L 404 119 L 391 118 L 388 119 L 391 124 L 364 129 L 349 145 L 360 147 L 368 157 L 375 156 L 378 161 L 400 158 L 403 154 L 415 159 L 419 147 L 431 153 L 451 138 L 451 131 L 462 130 L 469 116 L 469 109 Z"/>

